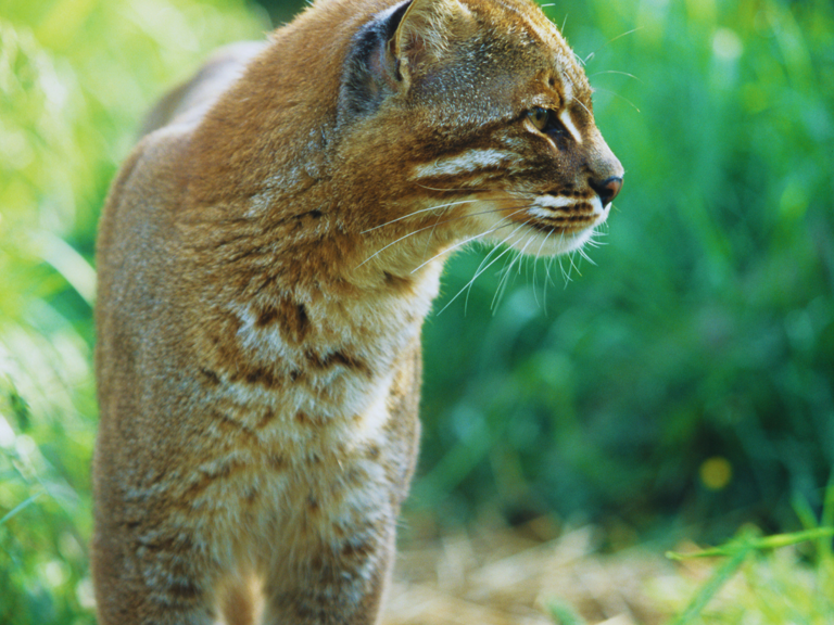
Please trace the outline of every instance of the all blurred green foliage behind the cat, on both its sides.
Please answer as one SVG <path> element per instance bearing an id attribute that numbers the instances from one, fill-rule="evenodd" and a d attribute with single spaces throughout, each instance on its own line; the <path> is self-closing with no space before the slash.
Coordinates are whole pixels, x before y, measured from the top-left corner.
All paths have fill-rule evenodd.
<path id="1" fill-rule="evenodd" d="M 596 266 L 496 264 L 429 319 L 409 506 L 791 528 L 834 467 L 834 9 L 546 12 L 626 186 Z M 93 622 L 99 211 L 154 99 L 268 28 L 243 0 L 0 0 L 0 623 Z M 482 258 L 450 263 L 437 310 Z"/>

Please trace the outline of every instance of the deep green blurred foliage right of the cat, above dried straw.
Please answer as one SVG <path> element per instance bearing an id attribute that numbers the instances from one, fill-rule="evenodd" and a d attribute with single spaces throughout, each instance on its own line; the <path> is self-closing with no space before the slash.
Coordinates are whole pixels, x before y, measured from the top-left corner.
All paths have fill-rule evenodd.
<path id="1" fill-rule="evenodd" d="M 429 320 L 412 503 L 791 526 L 791 498 L 819 508 L 834 467 L 834 10 L 546 11 L 626 183 L 596 266 L 563 260 L 566 284 L 552 265 L 545 295 L 547 265 L 517 263 L 500 305 L 484 273 Z M 438 310 L 481 257 L 450 265 Z"/>

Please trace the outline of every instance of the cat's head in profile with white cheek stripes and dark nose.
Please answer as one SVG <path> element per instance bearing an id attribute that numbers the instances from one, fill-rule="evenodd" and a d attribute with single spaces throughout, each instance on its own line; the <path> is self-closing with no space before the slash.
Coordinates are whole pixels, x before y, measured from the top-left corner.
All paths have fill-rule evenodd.
<path id="1" fill-rule="evenodd" d="M 353 39 L 338 125 L 408 201 L 366 224 L 540 255 L 581 246 L 623 176 L 591 94 L 529 0 L 406 0 L 378 13 Z"/>

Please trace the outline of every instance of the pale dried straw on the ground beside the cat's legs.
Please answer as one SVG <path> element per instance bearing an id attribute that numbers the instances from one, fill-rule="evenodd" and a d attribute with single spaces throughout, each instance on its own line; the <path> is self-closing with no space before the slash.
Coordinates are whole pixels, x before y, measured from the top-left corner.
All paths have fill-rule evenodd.
<path id="1" fill-rule="evenodd" d="M 661 552 L 597 552 L 593 527 L 548 540 L 525 527 L 458 531 L 397 556 L 384 625 L 554 625 L 551 607 L 589 623 L 656 625 L 669 617 L 646 592 L 673 574 Z"/>

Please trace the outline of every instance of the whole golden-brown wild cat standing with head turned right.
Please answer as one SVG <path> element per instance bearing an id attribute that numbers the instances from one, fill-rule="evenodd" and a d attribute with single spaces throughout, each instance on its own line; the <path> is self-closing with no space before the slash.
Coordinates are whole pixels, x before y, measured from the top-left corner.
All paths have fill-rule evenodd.
<path id="1" fill-rule="evenodd" d="M 586 78 L 529 0 L 321 0 L 152 126 L 99 239 L 99 622 L 375 623 L 444 257 L 620 190 Z"/>

